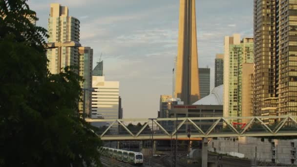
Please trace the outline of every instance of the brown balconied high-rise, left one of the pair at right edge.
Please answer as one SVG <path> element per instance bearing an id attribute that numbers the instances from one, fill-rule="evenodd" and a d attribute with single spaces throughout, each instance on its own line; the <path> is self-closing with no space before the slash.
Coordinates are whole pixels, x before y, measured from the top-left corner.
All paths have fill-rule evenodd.
<path id="1" fill-rule="evenodd" d="M 254 0 L 255 74 L 253 112 L 257 116 L 261 115 L 265 99 L 277 97 L 279 33 L 276 29 L 279 27 L 278 13 L 279 0 Z"/>

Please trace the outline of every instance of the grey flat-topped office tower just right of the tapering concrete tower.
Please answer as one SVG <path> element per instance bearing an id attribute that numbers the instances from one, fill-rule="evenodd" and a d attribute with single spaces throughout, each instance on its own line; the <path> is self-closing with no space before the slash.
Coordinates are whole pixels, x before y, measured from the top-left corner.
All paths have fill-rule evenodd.
<path id="1" fill-rule="evenodd" d="M 210 94 L 211 89 L 211 69 L 210 68 L 199 68 L 199 85 L 200 85 L 200 96 L 204 98 Z"/>

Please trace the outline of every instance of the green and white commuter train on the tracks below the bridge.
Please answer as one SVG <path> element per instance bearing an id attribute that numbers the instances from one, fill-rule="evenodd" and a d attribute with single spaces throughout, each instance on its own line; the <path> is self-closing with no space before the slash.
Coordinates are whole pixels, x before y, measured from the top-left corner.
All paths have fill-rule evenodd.
<path id="1" fill-rule="evenodd" d="M 129 164 L 140 165 L 143 164 L 143 155 L 140 152 L 126 151 L 122 149 L 100 147 L 99 152 L 109 158 L 114 158 Z"/>

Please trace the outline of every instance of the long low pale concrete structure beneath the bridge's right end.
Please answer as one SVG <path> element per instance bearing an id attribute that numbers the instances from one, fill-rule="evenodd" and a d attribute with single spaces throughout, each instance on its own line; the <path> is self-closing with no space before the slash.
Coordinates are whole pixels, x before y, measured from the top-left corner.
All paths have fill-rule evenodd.
<path id="1" fill-rule="evenodd" d="M 242 155 L 244 158 L 257 159 L 259 162 L 297 165 L 297 139 L 269 140 L 261 139 L 261 137 L 225 137 L 212 139 L 208 144 L 208 150 L 221 154 L 233 154 L 233 156 Z"/>

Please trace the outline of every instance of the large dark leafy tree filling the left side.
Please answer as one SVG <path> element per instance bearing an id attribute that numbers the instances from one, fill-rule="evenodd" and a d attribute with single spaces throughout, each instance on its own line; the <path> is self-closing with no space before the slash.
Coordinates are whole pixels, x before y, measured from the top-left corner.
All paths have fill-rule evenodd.
<path id="1" fill-rule="evenodd" d="M 100 166 L 101 141 L 80 119 L 77 74 L 50 74 L 46 30 L 26 0 L 0 1 L 0 167 Z"/>

